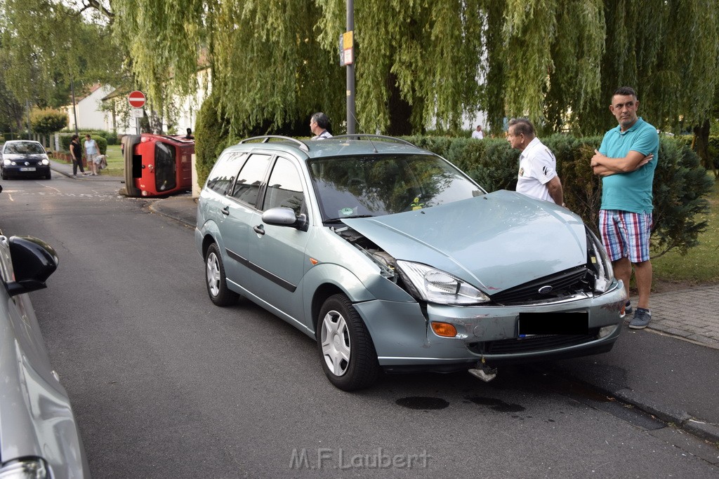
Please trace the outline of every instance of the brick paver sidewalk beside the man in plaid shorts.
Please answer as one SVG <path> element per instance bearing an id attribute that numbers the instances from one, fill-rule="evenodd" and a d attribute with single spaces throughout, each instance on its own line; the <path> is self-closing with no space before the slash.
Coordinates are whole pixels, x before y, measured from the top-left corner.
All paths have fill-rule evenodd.
<path id="1" fill-rule="evenodd" d="M 649 305 L 649 329 L 719 349 L 719 286 L 651 294 Z"/>

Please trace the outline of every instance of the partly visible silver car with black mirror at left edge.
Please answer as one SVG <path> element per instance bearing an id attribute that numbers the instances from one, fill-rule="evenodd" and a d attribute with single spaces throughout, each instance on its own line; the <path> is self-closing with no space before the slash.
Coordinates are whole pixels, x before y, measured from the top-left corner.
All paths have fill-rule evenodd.
<path id="1" fill-rule="evenodd" d="M 52 370 L 27 293 L 58 257 L 29 236 L 0 236 L 0 478 L 89 478 L 68 394 Z"/>

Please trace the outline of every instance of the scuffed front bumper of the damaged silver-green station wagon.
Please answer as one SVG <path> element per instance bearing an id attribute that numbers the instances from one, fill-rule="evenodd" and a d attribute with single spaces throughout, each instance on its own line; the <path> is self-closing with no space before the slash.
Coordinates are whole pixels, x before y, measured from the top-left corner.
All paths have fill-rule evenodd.
<path id="1" fill-rule="evenodd" d="M 596 297 L 520 306 L 457 307 L 374 300 L 354 304 L 375 343 L 380 366 L 388 371 L 452 371 L 487 363 L 517 363 L 603 353 L 621 330 L 620 308 L 626 301 L 621 282 Z M 519 338 L 520 313 L 587 312 L 588 334 L 536 335 Z M 448 322 L 454 338 L 436 335 L 431 322 Z"/>

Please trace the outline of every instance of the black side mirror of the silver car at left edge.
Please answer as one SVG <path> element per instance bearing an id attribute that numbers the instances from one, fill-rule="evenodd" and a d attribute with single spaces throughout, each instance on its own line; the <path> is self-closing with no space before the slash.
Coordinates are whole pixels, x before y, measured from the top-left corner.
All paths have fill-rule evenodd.
<path id="1" fill-rule="evenodd" d="M 45 281 L 58 269 L 58 254 L 49 244 L 32 236 L 8 239 L 15 281 L 5 283 L 10 296 L 47 287 Z"/>

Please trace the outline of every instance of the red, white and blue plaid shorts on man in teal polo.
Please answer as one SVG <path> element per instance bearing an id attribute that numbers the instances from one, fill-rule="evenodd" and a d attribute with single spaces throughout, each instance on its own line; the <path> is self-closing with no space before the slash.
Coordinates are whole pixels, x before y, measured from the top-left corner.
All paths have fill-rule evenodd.
<path id="1" fill-rule="evenodd" d="M 599 210 L 599 232 L 609 259 L 628 258 L 632 263 L 649 261 L 651 213 Z"/>

